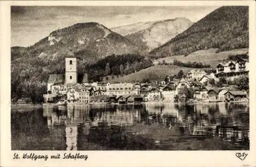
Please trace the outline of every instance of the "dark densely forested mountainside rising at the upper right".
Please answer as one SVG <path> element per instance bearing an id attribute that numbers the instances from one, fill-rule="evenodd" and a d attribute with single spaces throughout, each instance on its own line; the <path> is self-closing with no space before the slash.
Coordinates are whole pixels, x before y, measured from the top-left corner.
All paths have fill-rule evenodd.
<path id="1" fill-rule="evenodd" d="M 150 54 L 168 57 L 208 48 L 218 48 L 217 52 L 248 48 L 248 27 L 248 6 L 224 6 L 209 13 Z"/>

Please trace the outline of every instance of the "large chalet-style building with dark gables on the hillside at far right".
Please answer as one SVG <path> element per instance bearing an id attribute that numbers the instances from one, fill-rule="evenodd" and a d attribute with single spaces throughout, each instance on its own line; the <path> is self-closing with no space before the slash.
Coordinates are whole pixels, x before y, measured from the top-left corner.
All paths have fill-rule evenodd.
<path id="1" fill-rule="evenodd" d="M 241 75 L 248 75 L 249 61 L 246 59 L 238 59 L 237 61 L 229 61 L 220 63 L 216 67 L 216 77 L 229 77 L 230 79 Z"/>

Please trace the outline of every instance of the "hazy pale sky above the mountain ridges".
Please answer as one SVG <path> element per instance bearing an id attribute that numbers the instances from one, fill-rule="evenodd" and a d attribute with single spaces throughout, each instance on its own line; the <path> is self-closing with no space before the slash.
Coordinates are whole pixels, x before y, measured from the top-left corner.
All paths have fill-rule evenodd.
<path id="1" fill-rule="evenodd" d="M 193 22 L 217 6 L 12 6 L 11 46 L 30 46 L 51 32 L 81 22 L 98 22 L 111 29 L 143 21 L 186 17 Z"/>

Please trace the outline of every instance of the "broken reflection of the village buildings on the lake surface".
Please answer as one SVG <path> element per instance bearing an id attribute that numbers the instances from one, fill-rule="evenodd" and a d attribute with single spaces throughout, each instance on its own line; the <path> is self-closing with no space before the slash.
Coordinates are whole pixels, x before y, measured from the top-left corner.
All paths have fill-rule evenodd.
<path id="1" fill-rule="evenodd" d="M 239 105 L 239 106 L 236 106 Z M 239 112 L 233 112 L 239 108 Z M 85 136 L 100 135 L 97 127 L 112 126 L 131 129 L 132 125 L 159 125 L 159 128 L 183 128 L 191 136 L 220 136 L 234 143 L 249 143 L 249 123 L 239 113 L 248 116 L 243 104 L 179 105 L 91 105 L 44 106 L 44 117 L 52 138 L 66 143 L 67 150 L 79 150 L 89 141 Z M 182 136 L 181 136 L 182 137 Z M 89 143 L 88 143 L 89 145 Z"/>

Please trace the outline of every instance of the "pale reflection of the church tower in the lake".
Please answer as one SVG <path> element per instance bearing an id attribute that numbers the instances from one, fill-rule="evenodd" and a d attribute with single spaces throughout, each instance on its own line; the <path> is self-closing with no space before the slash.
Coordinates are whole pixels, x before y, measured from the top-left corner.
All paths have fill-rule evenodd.
<path id="1" fill-rule="evenodd" d="M 66 127 L 66 144 L 67 150 L 77 150 L 77 127 Z"/>

